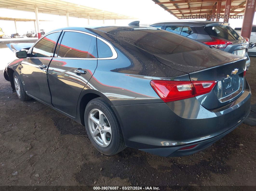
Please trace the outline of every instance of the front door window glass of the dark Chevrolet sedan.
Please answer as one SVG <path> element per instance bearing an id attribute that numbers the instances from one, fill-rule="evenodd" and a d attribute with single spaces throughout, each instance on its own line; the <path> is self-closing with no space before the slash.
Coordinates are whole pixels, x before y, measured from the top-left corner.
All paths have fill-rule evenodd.
<path id="1" fill-rule="evenodd" d="M 51 33 L 42 38 L 33 47 L 30 57 L 53 57 L 60 32 Z"/>

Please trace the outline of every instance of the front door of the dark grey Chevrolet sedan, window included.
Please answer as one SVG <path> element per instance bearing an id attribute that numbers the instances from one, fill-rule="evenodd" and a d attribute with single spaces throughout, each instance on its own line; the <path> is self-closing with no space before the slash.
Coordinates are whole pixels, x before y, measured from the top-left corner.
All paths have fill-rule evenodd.
<path id="1" fill-rule="evenodd" d="M 51 105 L 51 94 L 47 83 L 47 69 L 60 33 L 51 33 L 38 41 L 29 50 L 30 57 L 25 58 L 21 63 L 26 93 L 49 105 Z"/>

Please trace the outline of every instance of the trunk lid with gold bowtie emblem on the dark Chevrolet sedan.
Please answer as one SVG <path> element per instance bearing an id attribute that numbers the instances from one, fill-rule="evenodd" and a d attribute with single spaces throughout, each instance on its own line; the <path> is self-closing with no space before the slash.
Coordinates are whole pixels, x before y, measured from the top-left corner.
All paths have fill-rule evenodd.
<path id="1" fill-rule="evenodd" d="M 217 81 L 210 93 L 196 97 L 207 109 L 226 105 L 244 91 L 246 58 L 215 48 L 168 55 L 155 54 L 155 57 L 171 68 L 188 73 L 191 81 Z"/>

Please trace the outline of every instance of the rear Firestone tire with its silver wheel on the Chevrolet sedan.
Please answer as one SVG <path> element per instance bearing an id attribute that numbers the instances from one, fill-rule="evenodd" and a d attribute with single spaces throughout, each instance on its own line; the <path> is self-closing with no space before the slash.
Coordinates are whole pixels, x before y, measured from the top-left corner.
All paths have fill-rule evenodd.
<path id="1" fill-rule="evenodd" d="M 99 117 L 100 113 L 101 117 Z M 93 116 L 93 120 L 89 115 Z M 95 123 L 95 119 L 99 119 L 99 123 Z M 101 97 L 95 98 L 87 104 L 84 112 L 84 123 L 93 146 L 102 154 L 115 155 L 126 148 L 118 119 L 105 99 Z M 109 129 L 111 130 L 111 135 Z M 94 131 L 97 135 L 93 133 Z M 105 142 L 102 138 L 105 139 Z M 107 141 L 107 139 L 110 141 Z"/>

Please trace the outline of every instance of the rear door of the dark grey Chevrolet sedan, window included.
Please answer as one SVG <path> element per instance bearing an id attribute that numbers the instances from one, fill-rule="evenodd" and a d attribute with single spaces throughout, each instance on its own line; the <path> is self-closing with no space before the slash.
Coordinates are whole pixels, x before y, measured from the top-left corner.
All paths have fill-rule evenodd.
<path id="1" fill-rule="evenodd" d="M 78 98 L 97 67 L 96 36 L 64 31 L 48 69 L 52 105 L 76 117 Z"/>

